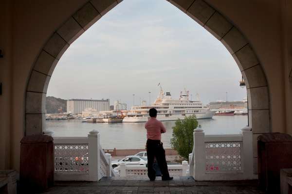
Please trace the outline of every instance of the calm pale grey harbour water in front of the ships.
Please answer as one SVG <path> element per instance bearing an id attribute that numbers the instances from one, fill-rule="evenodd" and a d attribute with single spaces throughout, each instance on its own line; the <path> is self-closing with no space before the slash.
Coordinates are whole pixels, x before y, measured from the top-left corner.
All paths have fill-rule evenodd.
<path id="1" fill-rule="evenodd" d="M 213 116 L 213 119 L 198 120 L 205 134 L 238 134 L 247 125 L 246 115 Z M 175 121 L 164 121 L 166 133 L 162 134 L 164 148 L 170 148 L 172 127 Z M 80 120 L 46 121 L 46 129 L 54 131 L 57 137 L 82 137 L 96 129 L 105 149 L 139 149 L 145 147 L 145 123 L 82 123 Z"/>

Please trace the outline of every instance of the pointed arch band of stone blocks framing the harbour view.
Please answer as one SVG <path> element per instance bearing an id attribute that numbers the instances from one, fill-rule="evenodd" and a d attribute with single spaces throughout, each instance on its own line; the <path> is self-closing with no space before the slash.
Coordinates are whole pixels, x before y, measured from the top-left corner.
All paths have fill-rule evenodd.
<path id="1" fill-rule="evenodd" d="M 121 1 L 88 0 L 46 42 L 27 83 L 25 135 L 42 133 L 47 87 L 62 54 L 75 39 Z M 237 27 L 204 0 L 169 1 L 221 41 L 236 60 L 247 86 L 249 125 L 254 133 L 254 168 L 256 169 L 256 137 L 270 132 L 269 88 L 256 53 Z"/>

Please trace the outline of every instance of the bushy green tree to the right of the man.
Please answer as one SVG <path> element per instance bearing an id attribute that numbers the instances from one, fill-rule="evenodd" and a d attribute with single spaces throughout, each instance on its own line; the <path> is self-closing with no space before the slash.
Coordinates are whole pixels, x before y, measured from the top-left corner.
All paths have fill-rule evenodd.
<path id="1" fill-rule="evenodd" d="M 172 127 L 171 147 L 186 160 L 193 151 L 193 132 L 197 127 L 198 121 L 195 115 L 185 116 L 184 120 L 178 119 Z"/>

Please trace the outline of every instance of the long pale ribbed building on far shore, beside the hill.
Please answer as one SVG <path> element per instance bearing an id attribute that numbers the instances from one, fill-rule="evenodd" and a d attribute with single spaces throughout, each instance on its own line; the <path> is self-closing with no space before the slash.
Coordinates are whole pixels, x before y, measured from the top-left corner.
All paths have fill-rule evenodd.
<path id="1" fill-rule="evenodd" d="M 110 99 L 92 100 L 92 99 L 69 99 L 67 100 L 67 112 L 72 114 L 82 113 L 86 108 L 99 111 L 110 110 Z"/>

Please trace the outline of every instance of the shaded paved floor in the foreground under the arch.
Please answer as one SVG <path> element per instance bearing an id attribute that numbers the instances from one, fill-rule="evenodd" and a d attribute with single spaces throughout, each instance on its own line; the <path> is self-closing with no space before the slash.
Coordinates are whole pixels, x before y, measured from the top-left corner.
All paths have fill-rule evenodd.
<path id="1" fill-rule="evenodd" d="M 44 194 L 264 194 L 257 180 L 195 181 L 178 177 L 170 181 L 157 178 L 102 178 L 98 182 L 56 181 Z"/>

